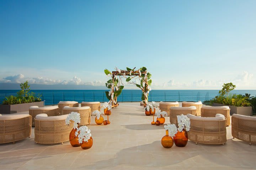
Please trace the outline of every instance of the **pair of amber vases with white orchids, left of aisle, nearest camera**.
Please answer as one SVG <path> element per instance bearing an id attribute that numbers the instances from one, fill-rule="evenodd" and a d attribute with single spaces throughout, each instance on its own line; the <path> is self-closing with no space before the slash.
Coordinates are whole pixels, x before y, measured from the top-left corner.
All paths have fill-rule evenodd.
<path id="1" fill-rule="evenodd" d="M 93 144 L 91 130 L 88 129 L 87 126 L 79 126 L 80 114 L 77 112 L 71 112 L 66 118 L 66 124 L 69 125 L 70 121 L 74 121 L 74 128 L 69 134 L 69 142 L 71 146 L 81 146 L 82 149 L 91 148 Z"/>

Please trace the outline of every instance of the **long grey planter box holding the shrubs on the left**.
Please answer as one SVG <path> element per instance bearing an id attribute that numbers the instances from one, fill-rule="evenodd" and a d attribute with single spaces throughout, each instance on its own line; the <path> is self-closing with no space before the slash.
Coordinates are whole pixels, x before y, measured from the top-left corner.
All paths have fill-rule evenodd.
<path id="1" fill-rule="evenodd" d="M 44 107 L 44 102 L 42 101 L 42 102 L 12 104 L 12 105 L 0 104 L 0 114 L 26 112 L 26 111 L 28 111 L 30 106 Z"/>

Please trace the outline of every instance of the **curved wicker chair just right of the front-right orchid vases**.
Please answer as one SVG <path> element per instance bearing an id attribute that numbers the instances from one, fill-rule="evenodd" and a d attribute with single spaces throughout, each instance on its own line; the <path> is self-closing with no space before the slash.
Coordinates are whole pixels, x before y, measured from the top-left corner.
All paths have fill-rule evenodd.
<path id="1" fill-rule="evenodd" d="M 187 114 L 190 118 L 188 139 L 197 143 L 219 145 L 226 142 L 226 118 L 222 114 L 205 118 Z"/>

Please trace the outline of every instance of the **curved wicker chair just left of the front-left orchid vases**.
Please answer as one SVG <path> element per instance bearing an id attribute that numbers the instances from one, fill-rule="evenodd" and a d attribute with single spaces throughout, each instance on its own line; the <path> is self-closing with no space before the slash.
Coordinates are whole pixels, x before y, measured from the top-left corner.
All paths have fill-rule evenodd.
<path id="1" fill-rule="evenodd" d="M 74 122 L 65 124 L 66 115 L 50 116 L 47 114 L 36 115 L 34 128 L 34 141 L 42 144 L 61 143 L 69 140 L 69 133 L 74 128 Z"/>

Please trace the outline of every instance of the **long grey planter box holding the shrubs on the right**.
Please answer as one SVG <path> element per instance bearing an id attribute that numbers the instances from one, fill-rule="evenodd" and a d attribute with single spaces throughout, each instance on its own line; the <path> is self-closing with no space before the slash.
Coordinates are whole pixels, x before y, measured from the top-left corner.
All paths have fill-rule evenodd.
<path id="1" fill-rule="evenodd" d="M 230 114 L 240 114 L 246 116 L 252 116 L 252 107 L 236 107 L 236 106 L 229 106 L 225 104 L 213 103 L 212 106 L 228 106 L 230 108 Z"/>

